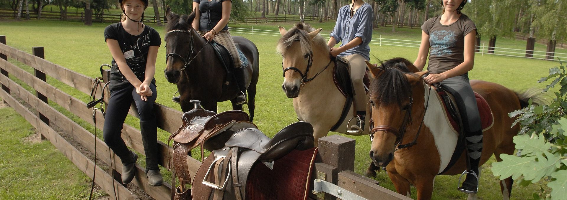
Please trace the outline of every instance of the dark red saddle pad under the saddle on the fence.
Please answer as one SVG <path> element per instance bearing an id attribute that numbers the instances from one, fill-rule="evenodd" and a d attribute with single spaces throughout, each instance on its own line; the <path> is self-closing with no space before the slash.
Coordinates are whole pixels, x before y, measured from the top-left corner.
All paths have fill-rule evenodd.
<path id="1" fill-rule="evenodd" d="M 256 163 L 248 175 L 246 199 L 308 199 L 317 148 L 293 150 L 274 162 L 273 170 Z"/>

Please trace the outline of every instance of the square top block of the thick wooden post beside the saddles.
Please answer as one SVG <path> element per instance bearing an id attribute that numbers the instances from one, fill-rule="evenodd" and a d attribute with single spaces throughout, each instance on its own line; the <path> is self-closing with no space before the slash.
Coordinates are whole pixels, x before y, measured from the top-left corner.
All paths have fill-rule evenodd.
<path id="1" fill-rule="evenodd" d="M 336 167 L 338 171 L 354 170 L 354 139 L 337 134 L 319 138 L 321 162 Z"/>

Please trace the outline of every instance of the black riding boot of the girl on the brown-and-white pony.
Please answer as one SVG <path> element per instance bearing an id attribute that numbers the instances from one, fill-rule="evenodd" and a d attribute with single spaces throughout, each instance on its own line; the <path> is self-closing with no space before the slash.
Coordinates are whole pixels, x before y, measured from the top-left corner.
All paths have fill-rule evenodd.
<path id="1" fill-rule="evenodd" d="M 471 170 L 475 172 L 476 177 L 471 173 L 467 173 L 467 178 L 463 181 L 463 185 L 460 186 L 458 189 L 461 192 L 468 193 L 468 194 L 476 194 L 479 187 L 479 163 L 480 163 L 480 155 L 483 151 L 483 132 L 476 131 L 472 133 L 468 133 L 465 135 L 467 140 L 467 149 L 468 149 L 468 157 L 469 163 L 471 164 Z"/>

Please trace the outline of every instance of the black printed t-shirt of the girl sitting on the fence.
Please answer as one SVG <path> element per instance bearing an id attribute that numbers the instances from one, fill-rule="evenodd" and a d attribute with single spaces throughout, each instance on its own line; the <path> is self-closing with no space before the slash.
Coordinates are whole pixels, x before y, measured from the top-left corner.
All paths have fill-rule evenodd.
<path id="1" fill-rule="evenodd" d="M 162 44 L 162 38 L 159 37 L 159 33 L 155 31 L 154 28 L 146 25 L 141 34 L 133 36 L 126 32 L 124 27 L 122 27 L 122 23 L 119 22 L 108 25 L 108 27 L 104 29 L 104 41 L 107 39 L 118 41 L 120 50 L 124 54 L 126 63 L 128 63 L 128 67 L 132 69 L 132 72 L 134 72 L 134 75 L 136 75 L 140 81 L 143 81 L 146 72 L 147 53 L 150 46 L 160 46 Z M 155 85 L 155 78 L 151 80 L 151 83 Z M 115 59 L 112 58 L 110 89 L 123 88 L 129 84 L 130 81 L 122 75 Z"/>

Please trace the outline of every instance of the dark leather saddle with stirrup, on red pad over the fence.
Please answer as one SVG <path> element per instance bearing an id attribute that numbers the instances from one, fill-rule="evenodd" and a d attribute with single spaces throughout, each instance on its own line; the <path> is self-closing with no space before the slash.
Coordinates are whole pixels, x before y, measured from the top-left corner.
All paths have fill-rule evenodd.
<path id="1" fill-rule="evenodd" d="M 304 121 L 288 125 L 272 139 L 257 128 L 240 129 L 201 164 L 192 184 L 192 198 L 245 199 L 247 179 L 256 163 L 272 168 L 274 160 L 291 151 L 313 147 L 313 127 Z"/>

